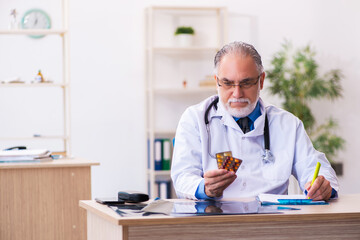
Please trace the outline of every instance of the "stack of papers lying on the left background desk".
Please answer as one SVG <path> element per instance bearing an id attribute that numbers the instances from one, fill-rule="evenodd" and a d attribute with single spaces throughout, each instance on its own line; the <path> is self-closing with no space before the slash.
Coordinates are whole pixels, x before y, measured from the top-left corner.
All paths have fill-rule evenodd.
<path id="1" fill-rule="evenodd" d="M 0 151 L 0 163 L 51 161 L 51 152 L 46 149 L 24 149 Z"/>

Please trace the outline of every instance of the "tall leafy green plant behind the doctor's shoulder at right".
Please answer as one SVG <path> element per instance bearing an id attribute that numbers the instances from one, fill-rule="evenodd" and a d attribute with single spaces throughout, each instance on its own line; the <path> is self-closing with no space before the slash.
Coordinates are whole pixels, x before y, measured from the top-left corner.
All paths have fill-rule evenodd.
<path id="1" fill-rule="evenodd" d="M 335 100 L 342 97 L 340 81 L 343 75 L 339 69 L 333 69 L 320 76 L 314 58 L 315 51 L 309 45 L 292 50 L 291 43 L 286 41 L 282 44 L 282 49 L 273 56 L 271 70 L 266 72 L 270 80 L 270 91 L 284 100 L 284 109 L 303 121 L 314 147 L 326 154 L 336 170 L 334 158 L 344 148 L 345 140 L 335 134 L 337 123 L 334 119 L 330 118 L 327 122 L 316 125 L 309 106 L 313 99 Z M 342 169 L 337 171 L 342 174 Z"/>

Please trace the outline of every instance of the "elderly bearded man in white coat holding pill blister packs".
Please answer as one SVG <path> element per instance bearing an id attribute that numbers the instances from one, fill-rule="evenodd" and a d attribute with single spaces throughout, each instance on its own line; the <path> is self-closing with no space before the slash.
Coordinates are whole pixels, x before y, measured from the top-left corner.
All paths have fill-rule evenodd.
<path id="1" fill-rule="evenodd" d="M 291 175 L 310 198 L 335 197 L 336 174 L 314 149 L 301 120 L 259 97 L 265 73 L 256 49 L 233 42 L 216 54 L 214 63 L 218 95 L 189 107 L 176 131 L 171 177 L 178 197 L 287 194 Z M 266 158 L 264 134 L 271 143 Z M 236 173 L 218 169 L 215 154 L 225 151 L 243 160 Z M 319 176 L 310 186 L 317 162 Z"/>

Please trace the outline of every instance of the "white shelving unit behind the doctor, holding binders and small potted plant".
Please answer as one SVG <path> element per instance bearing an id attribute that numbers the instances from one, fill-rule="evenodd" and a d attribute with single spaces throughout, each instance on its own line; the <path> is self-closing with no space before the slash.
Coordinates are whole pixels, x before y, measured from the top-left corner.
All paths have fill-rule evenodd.
<path id="1" fill-rule="evenodd" d="M 171 181 L 170 171 L 154 170 L 154 140 L 172 141 L 186 107 L 216 94 L 215 80 L 209 87 L 201 87 L 200 82 L 213 74 L 215 53 L 227 42 L 227 16 L 225 7 L 153 6 L 145 11 L 146 166 L 153 198 L 159 194 L 158 180 Z M 194 28 L 193 45 L 176 44 L 178 26 Z M 171 197 L 176 197 L 171 191 Z"/>

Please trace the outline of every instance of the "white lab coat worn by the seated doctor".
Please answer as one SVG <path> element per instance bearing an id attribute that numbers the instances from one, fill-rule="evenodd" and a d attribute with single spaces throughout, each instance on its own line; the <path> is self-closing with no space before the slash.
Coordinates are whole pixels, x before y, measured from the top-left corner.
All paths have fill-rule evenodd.
<path id="1" fill-rule="evenodd" d="M 293 114 L 260 101 L 261 116 L 255 129 L 244 134 L 221 101 L 218 109 L 211 108 L 210 136 L 206 131 L 205 111 L 215 96 L 191 106 L 183 113 L 175 136 L 171 177 L 179 198 L 195 198 L 196 189 L 205 172 L 217 169 L 216 153 L 232 151 L 232 156 L 243 160 L 236 180 L 223 192 L 224 198 L 254 197 L 260 193 L 287 194 L 290 175 L 305 183 L 312 180 L 317 162 L 323 175 L 338 191 L 336 174 L 325 154 L 316 151 L 306 134 L 303 123 Z M 264 122 L 269 120 L 270 150 L 275 162 L 264 164 Z M 208 149 L 208 137 L 211 138 Z"/>

